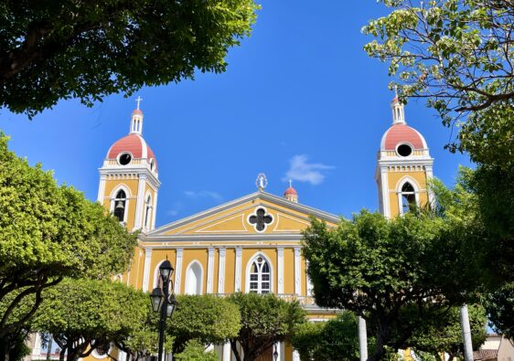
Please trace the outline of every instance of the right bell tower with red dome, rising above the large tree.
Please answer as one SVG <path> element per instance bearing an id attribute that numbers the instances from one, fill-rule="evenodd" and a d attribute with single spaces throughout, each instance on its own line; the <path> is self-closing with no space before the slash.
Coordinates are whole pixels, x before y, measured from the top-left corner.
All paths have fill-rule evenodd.
<path id="1" fill-rule="evenodd" d="M 398 95 L 391 101 L 391 112 L 392 125 L 382 136 L 375 172 L 380 213 L 387 218 L 431 204 L 427 181 L 434 176 L 434 158 L 423 135 L 405 122 Z"/>

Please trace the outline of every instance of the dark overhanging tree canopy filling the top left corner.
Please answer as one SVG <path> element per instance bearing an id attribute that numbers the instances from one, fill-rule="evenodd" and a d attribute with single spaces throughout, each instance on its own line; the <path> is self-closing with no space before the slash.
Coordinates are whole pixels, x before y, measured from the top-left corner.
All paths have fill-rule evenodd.
<path id="1" fill-rule="evenodd" d="M 60 99 L 106 95 L 222 72 L 250 35 L 252 0 L 107 0 L 0 6 L 0 106 L 29 117 Z"/>

